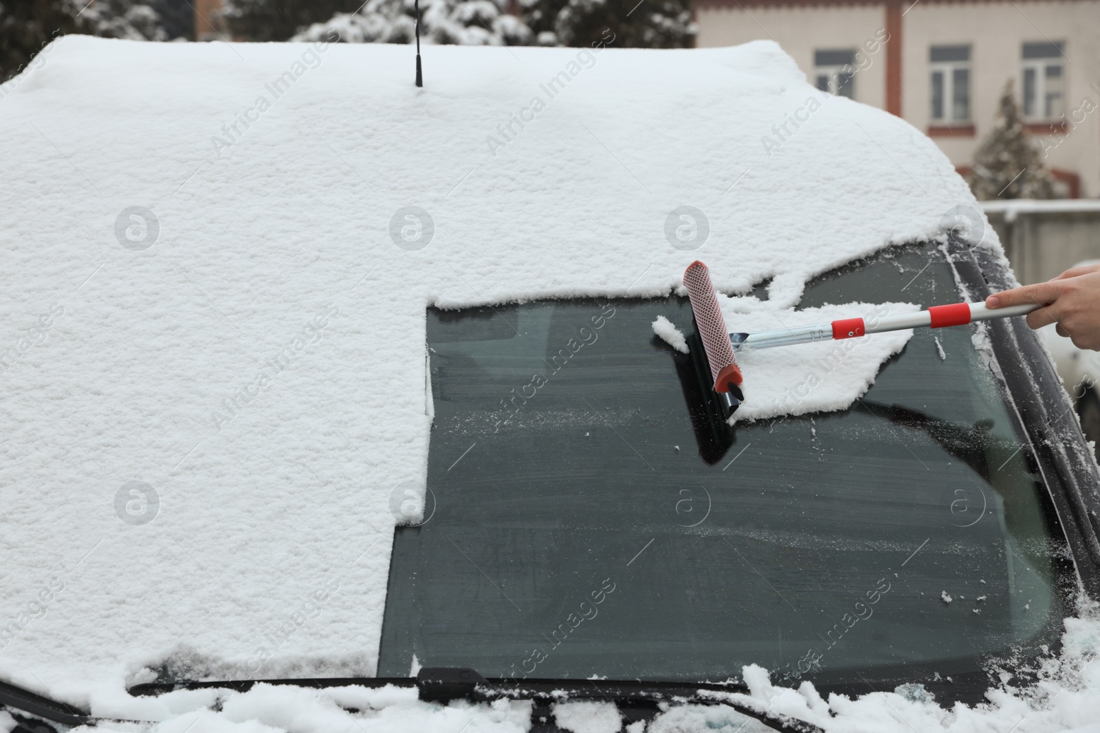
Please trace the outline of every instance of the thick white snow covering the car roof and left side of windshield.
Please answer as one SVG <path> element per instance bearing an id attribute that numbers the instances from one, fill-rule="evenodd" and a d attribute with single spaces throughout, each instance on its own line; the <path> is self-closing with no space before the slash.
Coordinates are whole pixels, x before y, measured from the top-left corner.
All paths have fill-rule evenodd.
<path id="1" fill-rule="evenodd" d="M 428 306 L 662 296 L 702 258 L 788 309 L 976 207 L 772 43 L 424 60 L 68 36 L 0 86 L 0 678 L 133 718 L 166 659 L 370 675 Z"/>

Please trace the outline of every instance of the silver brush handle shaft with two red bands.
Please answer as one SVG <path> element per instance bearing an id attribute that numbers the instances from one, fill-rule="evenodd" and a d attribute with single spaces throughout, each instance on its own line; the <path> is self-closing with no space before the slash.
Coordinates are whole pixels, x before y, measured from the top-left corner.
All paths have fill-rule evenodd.
<path id="1" fill-rule="evenodd" d="M 792 344 L 809 344 L 814 341 L 855 338 L 870 333 L 901 331 L 903 329 L 932 327 L 939 329 L 949 325 L 965 325 L 975 321 L 991 321 L 1013 315 L 1025 315 L 1036 311 L 1042 306 L 1009 306 L 991 310 L 982 303 L 955 303 L 936 306 L 916 313 L 898 313 L 882 315 L 877 319 L 845 319 L 831 323 L 814 323 L 793 329 L 774 329 L 757 333 L 732 333 L 729 341 L 734 351 L 748 348 L 773 348 Z"/>

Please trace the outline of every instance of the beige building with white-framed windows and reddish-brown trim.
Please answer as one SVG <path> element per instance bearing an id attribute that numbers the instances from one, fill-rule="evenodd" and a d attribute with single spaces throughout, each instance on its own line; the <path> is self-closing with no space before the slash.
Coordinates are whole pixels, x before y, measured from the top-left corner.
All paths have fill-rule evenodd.
<path id="1" fill-rule="evenodd" d="M 779 43 L 811 84 L 903 116 L 965 171 L 1014 82 L 1070 198 L 1100 197 L 1100 0 L 694 0 L 698 46 Z"/>

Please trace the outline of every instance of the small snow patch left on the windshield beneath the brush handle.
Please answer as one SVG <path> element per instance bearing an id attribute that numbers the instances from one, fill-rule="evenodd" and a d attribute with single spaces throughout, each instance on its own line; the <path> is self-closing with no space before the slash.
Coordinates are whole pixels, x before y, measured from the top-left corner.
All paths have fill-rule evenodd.
<path id="1" fill-rule="evenodd" d="M 865 323 L 898 313 L 921 310 L 914 303 L 845 303 L 804 310 L 777 309 L 756 298 L 718 296 L 726 326 L 734 333 L 790 329 L 840 319 L 862 318 Z M 654 325 L 656 330 L 656 325 Z M 875 384 L 879 367 L 904 348 L 912 329 L 888 331 L 857 338 L 818 341 L 774 348 L 743 347 L 737 364 L 745 381 L 745 401 L 737 421 L 781 414 L 844 410 Z"/>

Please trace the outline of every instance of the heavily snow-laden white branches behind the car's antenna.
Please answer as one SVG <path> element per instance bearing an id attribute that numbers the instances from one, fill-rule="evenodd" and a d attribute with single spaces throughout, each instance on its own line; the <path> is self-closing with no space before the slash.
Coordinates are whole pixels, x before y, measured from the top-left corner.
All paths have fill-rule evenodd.
<path id="1" fill-rule="evenodd" d="M 505 12 L 506 7 L 506 0 L 420 0 L 420 40 L 424 43 L 469 46 L 530 43 L 530 29 Z M 324 23 L 315 23 L 293 40 L 410 43 L 415 31 L 414 0 L 367 0 L 358 12 L 337 13 Z"/>

